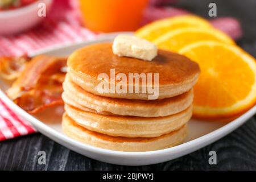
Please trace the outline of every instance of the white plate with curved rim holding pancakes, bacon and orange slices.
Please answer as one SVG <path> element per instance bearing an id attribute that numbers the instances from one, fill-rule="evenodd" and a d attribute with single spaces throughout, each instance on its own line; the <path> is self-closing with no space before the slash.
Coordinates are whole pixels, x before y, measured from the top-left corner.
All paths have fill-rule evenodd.
<path id="1" fill-rule="evenodd" d="M 55 56 L 65 56 L 72 53 L 75 49 L 84 47 L 89 44 L 98 43 L 98 42 L 110 42 L 113 40 L 113 37 L 116 34 L 105 35 L 97 40 L 69 44 L 66 46 L 57 46 L 55 48 L 47 48 L 37 52 L 36 54 L 47 54 Z M 0 88 L 4 91 L 9 85 L 6 84 L 0 78 Z M 191 119 L 189 121 L 189 134 L 187 139 L 180 144 L 179 146 L 166 148 L 163 150 L 157 151 L 148 151 L 148 152 L 120 152 L 105 150 L 98 147 L 89 146 L 67 137 L 61 131 L 61 117 L 53 116 L 47 114 L 48 111 L 44 111 L 42 114 L 32 116 L 26 111 L 21 109 L 19 106 L 14 104 L 4 92 L 0 90 L 0 98 L 5 102 L 12 110 L 15 111 L 21 117 L 27 119 L 31 122 L 32 125 L 40 131 L 40 133 L 46 135 L 47 137 L 55 140 L 57 143 L 62 144 L 69 149 L 76 151 L 82 155 L 88 156 L 102 162 L 113 163 L 113 164 L 122 164 L 122 165 L 147 165 L 166 162 L 167 160 L 172 160 L 179 158 L 180 156 L 189 154 L 190 152 L 196 151 L 201 147 L 207 146 L 208 144 L 215 142 L 216 140 L 224 137 L 237 127 L 241 126 L 256 113 L 256 106 L 251 108 L 245 114 L 241 115 L 239 118 L 235 119 L 232 122 L 207 122 L 207 121 L 198 121 Z"/>

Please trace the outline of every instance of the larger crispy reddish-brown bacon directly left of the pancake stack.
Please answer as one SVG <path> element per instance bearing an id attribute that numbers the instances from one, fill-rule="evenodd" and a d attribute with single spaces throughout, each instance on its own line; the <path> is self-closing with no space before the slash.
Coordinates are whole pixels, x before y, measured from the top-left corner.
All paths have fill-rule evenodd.
<path id="1" fill-rule="evenodd" d="M 46 107 L 63 105 L 61 93 L 66 65 L 66 57 L 34 57 L 7 90 L 7 95 L 31 114 Z"/>

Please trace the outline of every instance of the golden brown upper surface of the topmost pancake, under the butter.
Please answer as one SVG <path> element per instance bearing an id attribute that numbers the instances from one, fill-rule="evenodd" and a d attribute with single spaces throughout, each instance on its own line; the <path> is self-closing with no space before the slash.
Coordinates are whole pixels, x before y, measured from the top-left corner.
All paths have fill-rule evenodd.
<path id="1" fill-rule="evenodd" d="M 152 61 L 119 57 L 113 54 L 112 43 L 93 44 L 75 51 L 69 56 L 68 68 L 94 79 L 100 73 L 106 73 L 110 79 L 112 68 L 115 75 L 125 73 L 127 80 L 129 73 L 159 73 L 160 85 L 177 84 L 200 72 L 199 65 L 187 57 L 160 49 Z"/>

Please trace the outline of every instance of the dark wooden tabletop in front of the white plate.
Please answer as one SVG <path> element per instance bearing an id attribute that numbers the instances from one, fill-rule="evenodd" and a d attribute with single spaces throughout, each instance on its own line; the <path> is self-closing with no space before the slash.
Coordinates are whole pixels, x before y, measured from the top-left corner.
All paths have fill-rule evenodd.
<path id="1" fill-rule="evenodd" d="M 44 137 L 32 134 L 0 143 L 0 169 L 10 170 L 218 170 L 256 169 L 256 120 L 251 118 L 230 135 L 192 154 L 149 166 L 118 166 L 89 159 Z M 39 165 L 38 152 L 46 151 L 47 164 Z M 208 152 L 217 152 L 210 166 Z"/>

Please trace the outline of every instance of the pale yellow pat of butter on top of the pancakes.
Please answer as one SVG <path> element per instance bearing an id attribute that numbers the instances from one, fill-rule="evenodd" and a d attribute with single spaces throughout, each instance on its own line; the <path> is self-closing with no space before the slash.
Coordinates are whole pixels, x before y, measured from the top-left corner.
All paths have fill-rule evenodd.
<path id="1" fill-rule="evenodd" d="M 113 42 L 113 53 L 118 56 L 134 57 L 151 61 L 158 53 L 155 44 L 131 35 L 118 35 Z"/>

